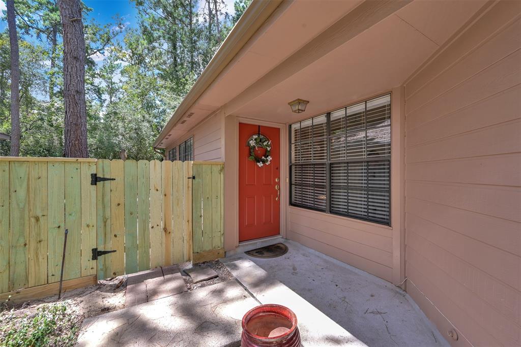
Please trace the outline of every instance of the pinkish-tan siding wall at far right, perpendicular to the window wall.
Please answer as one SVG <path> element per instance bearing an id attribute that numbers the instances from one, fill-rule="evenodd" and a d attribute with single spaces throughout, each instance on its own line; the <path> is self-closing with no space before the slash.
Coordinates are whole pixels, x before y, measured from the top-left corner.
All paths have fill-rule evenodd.
<path id="1" fill-rule="evenodd" d="M 407 291 L 454 346 L 521 345 L 520 14 L 494 5 L 405 85 Z"/>

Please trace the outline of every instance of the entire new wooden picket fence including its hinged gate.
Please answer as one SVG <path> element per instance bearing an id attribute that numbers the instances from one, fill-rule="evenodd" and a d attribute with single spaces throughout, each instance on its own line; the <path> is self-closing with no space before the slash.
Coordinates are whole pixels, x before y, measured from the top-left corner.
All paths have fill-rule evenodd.
<path id="1" fill-rule="evenodd" d="M 0 158 L 0 300 L 21 288 L 54 291 L 65 229 L 66 288 L 224 256 L 223 168 Z"/>

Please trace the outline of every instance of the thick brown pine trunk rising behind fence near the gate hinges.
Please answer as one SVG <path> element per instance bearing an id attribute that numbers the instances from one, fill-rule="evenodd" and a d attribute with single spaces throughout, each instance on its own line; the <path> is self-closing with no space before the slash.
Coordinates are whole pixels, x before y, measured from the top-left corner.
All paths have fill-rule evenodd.
<path id="1" fill-rule="evenodd" d="M 64 42 L 65 157 L 87 158 L 85 37 L 80 0 L 59 0 Z"/>

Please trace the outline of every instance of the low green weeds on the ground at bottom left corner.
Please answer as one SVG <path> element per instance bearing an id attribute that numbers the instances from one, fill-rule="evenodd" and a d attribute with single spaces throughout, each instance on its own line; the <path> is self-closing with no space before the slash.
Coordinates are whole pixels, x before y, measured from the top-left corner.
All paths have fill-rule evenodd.
<path id="1" fill-rule="evenodd" d="M 73 346 L 80 324 L 66 305 L 41 305 L 32 315 L 4 312 L 0 316 L 0 346 Z"/>

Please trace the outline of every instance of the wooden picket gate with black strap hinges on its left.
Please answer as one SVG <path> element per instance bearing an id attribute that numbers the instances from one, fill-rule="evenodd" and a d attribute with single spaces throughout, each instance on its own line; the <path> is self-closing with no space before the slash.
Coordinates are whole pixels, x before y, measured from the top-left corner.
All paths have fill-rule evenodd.
<path id="1" fill-rule="evenodd" d="M 191 259 L 190 172 L 191 162 L 97 161 L 98 279 Z"/>

